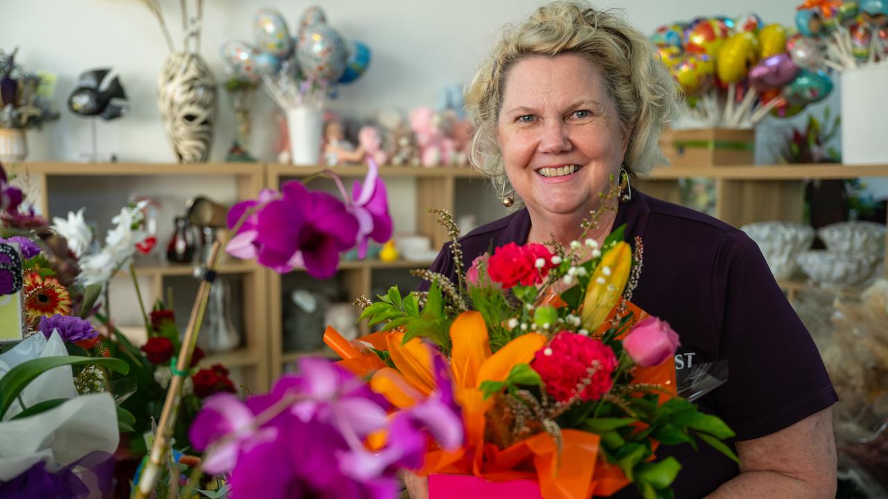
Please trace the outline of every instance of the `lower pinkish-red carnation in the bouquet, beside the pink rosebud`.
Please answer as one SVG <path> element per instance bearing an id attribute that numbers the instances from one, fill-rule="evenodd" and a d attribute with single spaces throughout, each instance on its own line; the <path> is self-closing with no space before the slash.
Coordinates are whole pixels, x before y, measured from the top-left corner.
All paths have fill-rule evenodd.
<path id="1" fill-rule="evenodd" d="M 597 365 L 580 394 L 582 400 L 599 400 L 614 384 L 611 374 L 617 366 L 616 355 L 609 346 L 597 339 L 584 337 L 569 331 L 561 331 L 551 344 L 536 352 L 530 364 L 543 378 L 546 392 L 559 402 L 570 400 L 578 384 L 589 376 L 588 368 Z"/>

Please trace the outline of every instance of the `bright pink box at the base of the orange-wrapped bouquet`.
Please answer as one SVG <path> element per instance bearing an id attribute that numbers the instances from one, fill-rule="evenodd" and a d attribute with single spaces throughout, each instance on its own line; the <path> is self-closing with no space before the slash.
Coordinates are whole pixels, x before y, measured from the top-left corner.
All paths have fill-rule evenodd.
<path id="1" fill-rule="evenodd" d="M 429 499 L 543 499 L 534 480 L 492 482 L 472 475 L 429 475 Z"/>

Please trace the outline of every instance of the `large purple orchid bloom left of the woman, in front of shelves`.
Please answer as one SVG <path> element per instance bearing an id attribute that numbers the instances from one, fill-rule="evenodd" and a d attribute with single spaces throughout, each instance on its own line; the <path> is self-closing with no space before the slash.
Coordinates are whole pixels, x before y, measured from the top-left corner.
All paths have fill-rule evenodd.
<path id="1" fill-rule="evenodd" d="M 301 259 L 313 278 L 329 279 L 339 253 L 354 246 L 357 219 L 337 198 L 310 192 L 295 180 L 284 183 L 281 194 L 258 213 L 259 263 L 282 273 Z"/>

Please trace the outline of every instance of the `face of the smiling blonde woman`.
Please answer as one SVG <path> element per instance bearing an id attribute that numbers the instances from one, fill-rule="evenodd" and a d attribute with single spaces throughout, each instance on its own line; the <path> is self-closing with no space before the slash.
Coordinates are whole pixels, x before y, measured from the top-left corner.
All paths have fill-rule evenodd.
<path id="1" fill-rule="evenodd" d="M 511 67 L 498 137 L 515 192 L 532 212 L 552 215 L 598 208 L 628 142 L 599 67 L 575 54 Z"/>

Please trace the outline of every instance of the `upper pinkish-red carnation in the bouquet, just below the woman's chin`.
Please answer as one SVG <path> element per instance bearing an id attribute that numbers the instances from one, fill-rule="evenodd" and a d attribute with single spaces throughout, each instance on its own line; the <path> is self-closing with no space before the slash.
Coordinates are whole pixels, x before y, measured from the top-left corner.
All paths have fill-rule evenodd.
<path id="1" fill-rule="evenodd" d="M 503 289 L 518 284 L 533 286 L 543 282 L 543 277 L 554 266 L 551 258 L 551 252 L 542 244 L 519 246 L 510 242 L 497 248 L 488 259 L 488 274 L 491 280 L 501 283 Z M 543 260 L 542 267 L 536 266 L 539 259 Z"/>

